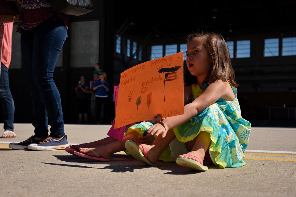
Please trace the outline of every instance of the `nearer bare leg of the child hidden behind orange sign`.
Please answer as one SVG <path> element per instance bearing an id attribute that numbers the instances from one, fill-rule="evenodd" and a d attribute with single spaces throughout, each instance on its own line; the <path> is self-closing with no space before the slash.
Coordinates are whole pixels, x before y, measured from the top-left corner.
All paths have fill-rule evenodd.
<path id="1" fill-rule="evenodd" d="M 132 132 L 129 135 L 123 137 L 122 141 L 116 139 L 115 141 L 111 141 L 110 143 L 107 143 L 107 144 L 92 146 L 92 148 L 90 149 L 95 151 L 100 157 L 104 159 L 110 159 L 114 153 L 126 150 L 126 147 L 124 146 L 126 141 L 137 139 L 138 136 L 139 136 L 138 132 Z M 79 150 L 81 153 L 87 154 L 92 157 L 96 157 L 94 153 L 91 152 L 90 150 L 82 149 L 82 148 L 79 148 Z"/>

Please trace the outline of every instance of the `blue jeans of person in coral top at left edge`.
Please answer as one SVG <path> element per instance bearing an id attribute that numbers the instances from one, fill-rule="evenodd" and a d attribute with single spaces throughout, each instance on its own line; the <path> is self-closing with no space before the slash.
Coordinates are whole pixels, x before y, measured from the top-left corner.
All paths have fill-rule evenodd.
<path id="1" fill-rule="evenodd" d="M 13 131 L 13 118 L 15 115 L 15 102 L 12 98 L 9 80 L 8 80 L 8 68 L 1 63 L 1 75 L 0 75 L 0 100 L 2 104 L 2 114 L 4 121 L 4 131 Z"/>

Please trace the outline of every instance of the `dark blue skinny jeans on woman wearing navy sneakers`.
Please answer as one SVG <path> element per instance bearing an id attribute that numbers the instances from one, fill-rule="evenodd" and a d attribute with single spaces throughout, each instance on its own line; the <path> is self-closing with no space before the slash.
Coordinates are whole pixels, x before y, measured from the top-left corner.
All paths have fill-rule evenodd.
<path id="1" fill-rule="evenodd" d="M 61 97 L 54 83 L 54 68 L 67 38 L 67 27 L 58 16 L 50 17 L 33 30 L 22 30 L 21 51 L 31 89 L 35 137 L 62 137 L 64 116 Z"/>

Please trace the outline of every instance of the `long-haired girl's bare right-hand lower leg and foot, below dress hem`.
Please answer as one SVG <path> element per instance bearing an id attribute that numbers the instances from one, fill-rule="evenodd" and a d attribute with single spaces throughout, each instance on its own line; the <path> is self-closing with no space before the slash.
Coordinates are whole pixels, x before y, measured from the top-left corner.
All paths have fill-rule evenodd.
<path id="1" fill-rule="evenodd" d="M 205 152 L 209 148 L 210 143 L 211 143 L 210 133 L 208 133 L 207 131 L 201 131 L 198 134 L 198 136 L 195 138 L 195 140 L 191 140 L 185 143 L 187 146 L 187 149 L 191 151 L 188 152 L 186 156 L 179 155 L 179 158 L 184 157 L 184 158 L 193 159 L 197 162 L 200 162 L 196 157 L 188 155 L 188 154 L 194 154 L 200 157 L 201 161 L 203 162 L 203 160 L 205 159 Z"/>

